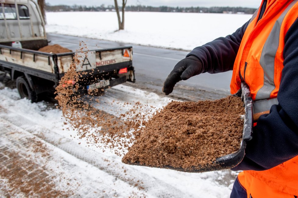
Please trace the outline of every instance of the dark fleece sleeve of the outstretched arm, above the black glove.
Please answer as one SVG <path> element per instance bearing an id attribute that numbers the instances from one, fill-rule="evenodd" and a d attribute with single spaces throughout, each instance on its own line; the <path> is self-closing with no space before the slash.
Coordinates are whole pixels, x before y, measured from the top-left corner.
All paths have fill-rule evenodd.
<path id="1" fill-rule="evenodd" d="M 232 70 L 248 24 L 249 21 L 231 35 L 219 37 L 203 46 L 194 48 L 186 57 L 196 56 L 202 62 L 203 73 L 219 73 Z"/>

